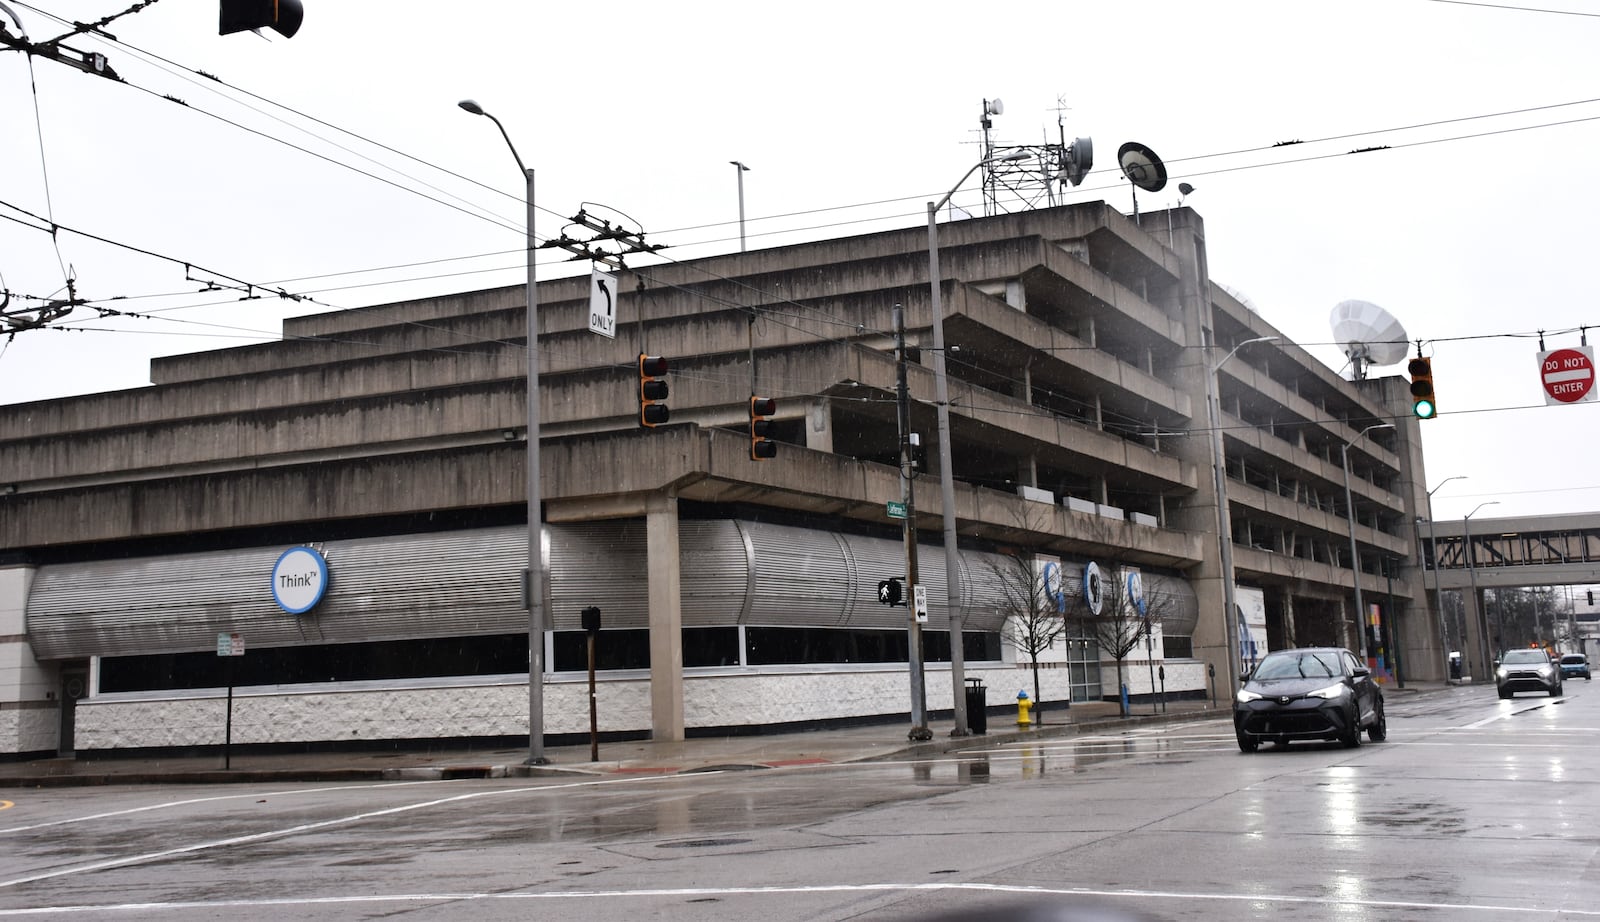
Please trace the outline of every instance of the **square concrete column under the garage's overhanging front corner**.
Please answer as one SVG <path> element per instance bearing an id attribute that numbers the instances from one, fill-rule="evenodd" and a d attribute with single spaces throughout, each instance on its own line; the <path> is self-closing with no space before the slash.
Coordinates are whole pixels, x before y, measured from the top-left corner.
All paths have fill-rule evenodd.
<path id="1" fill-rule="evenodd" d="M 678 498 L 645 499 L 650 562 L 650 738 L 683 740 L 683 595 L 678 570 Z"/>

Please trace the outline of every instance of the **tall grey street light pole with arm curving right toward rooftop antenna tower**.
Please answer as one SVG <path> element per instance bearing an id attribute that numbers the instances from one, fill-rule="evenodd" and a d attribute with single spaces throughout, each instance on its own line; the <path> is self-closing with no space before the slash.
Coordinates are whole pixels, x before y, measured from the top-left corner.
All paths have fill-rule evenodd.
<path id="1" fill-rule="evenodd" d="M 955 477 L 950 471 L 950 383 L 944 363 L 944 298 L 939 279 L 939 208 L 950 200 L 962 187 L 962 182 L 978 171 L 979 166 L 994 162 L 1026 160 L 1030 154 L 1016 152 L 1005 157 L 989 157 L 973 163 L 971 170 L 962 174 L 960 182 L 944 194 L 938 202 L 928 202 L 928 295 L 933 311 L 933 402 L 939 427 L 939 503 L 944 507 L 944 589 L 950 627 L 950 687 L 954 693 L 955 727 L 950 736 L 968 735 L 966 719 L 966 648 L 963 631 L 966 618 L 962 616 L 962 584 L 960 584 L 960 551 L 955 547 Z M 1069 683 L 1067 703 L 1070 706 L 1072 692 Z"/>

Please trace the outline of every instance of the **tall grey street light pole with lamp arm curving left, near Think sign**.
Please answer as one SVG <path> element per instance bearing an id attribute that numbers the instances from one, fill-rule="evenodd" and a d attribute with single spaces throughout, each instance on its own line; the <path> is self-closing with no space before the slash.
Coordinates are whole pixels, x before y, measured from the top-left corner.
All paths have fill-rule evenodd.
<path id="1" fill-rule="evenodd" d="M 483 115 L 494 123 L 517 160 L 517 170 L 526 179 L 525 202 L 528 206 L 528 568 L 523 591 L 528 595 L 528 765 L 547 765 L 544 756 L 544 523 L 539 498 L 539 291 L 533 269 L 533 170 L 523 166 L 517 146 L 494 115 L 472 99 L 458 102 L 474 115 Z"/>

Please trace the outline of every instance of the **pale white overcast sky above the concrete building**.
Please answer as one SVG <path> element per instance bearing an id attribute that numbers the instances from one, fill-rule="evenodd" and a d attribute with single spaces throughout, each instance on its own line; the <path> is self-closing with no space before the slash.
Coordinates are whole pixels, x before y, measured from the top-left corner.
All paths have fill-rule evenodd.
<path id="1" fill-rule="evenodd" d="M 600 203 L 677 258 L 738 250 L 730 160 L 750 166 L 750 248 L 922 224 L 998 98 L 998 144 L 1053 142 L 1058 118 L 1094 139 L 1066 202 L 1131 213 L 1115 150 L 1154 149 L 1171 181 L 1141 210 L 1190 182 L 1213 279 L 1330 367 L 1344 299 L 1421 339 L 1427 485 L 1466 477 L 1435 517 L 1600 507 L 1595 405 L 1546 407 L 1536 362 L 1541 330 L 1555 349 L 1600 327 L 1592 0 L 304 3 L 288 40 L 162 0 L 106 26 L 117 42 L 64 42 L 126 83 L 0 51 L 8 309 L 64 298 L 70 272 L 136 314 L 0 339 L 0 403 L 138 387 L 152 355 L 288 315 L 520 283 L 522 179 L 462 98 L 538 170 L 541 237 Z M 42 40 L 133 3 L 3 5 Z M 976 178 L 955 202 L 981 213 Z"/>

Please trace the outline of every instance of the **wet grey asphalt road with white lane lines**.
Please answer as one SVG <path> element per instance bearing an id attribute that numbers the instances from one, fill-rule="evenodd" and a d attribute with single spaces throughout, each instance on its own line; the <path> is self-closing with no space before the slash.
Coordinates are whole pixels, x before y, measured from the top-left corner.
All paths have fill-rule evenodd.
<path id="1" fill-rule="evenodd" d="M 666 778 L 14 791 L 0 917 L 1600 917 L 1600 687 L 1389 701 L 1360 749 L 1243 756 L 1205 720 Z"/>

